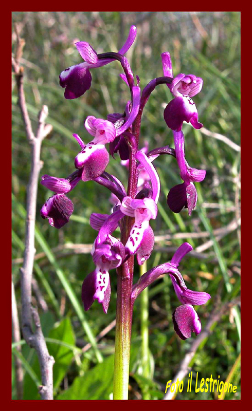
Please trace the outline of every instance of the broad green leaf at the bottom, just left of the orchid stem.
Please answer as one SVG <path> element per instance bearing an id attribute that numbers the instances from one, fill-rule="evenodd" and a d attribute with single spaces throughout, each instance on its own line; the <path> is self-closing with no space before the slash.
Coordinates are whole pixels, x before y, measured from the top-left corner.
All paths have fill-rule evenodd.
<path id="1" fill-rule="evenodd" d="M 114 356 L 102 364 L 76 377 L 73 385 L 57 397 L 57 400 L 109 400 L 113 391 Z"/>

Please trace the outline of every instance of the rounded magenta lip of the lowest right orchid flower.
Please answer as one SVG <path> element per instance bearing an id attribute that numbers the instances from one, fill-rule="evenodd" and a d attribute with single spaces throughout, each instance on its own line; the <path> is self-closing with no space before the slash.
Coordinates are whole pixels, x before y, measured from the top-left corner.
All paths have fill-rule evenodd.
<path id="1" fill-rule="evenodd" d="M 186 340 L 192 331 L 198 335 L 201 332 L 201 322 L 192 305 L 185 304 L 177 307 L 172 315 L 174 330 L 178 337 Z"/>

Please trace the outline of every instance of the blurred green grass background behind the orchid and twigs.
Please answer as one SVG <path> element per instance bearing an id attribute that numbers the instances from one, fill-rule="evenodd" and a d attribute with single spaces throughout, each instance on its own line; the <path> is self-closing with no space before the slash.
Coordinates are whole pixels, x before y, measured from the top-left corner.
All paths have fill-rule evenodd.
<path id="1" fill-rule="evenodd" d="M 79 151 L 72 133 L 84 141 L 88 134 L 83 122 L 88 115 L 106 118 L 108 113 L 122 112 L 129 91 L 120 79 L 118 62 L 92 70 L 92 87 L 76 100 L 65 100 L 59 86 L 59 74 L 68 66 L 82 61 L 74 43 L 86 41 L 97 52 L 117 51 L 127 38 L 132 24 L 137 25 L 137 40 L 127 53 L 131 67 L 140 78 L 143 88 L 151 79 L 163 75 L 160 53 L 169 51 L 173 72 L 193 73 L 202 77 L 204 87 L 194 97 L 199 120 L 211 132 L 228 137 L 240 144 L 240 13 L 239 12 L 13 12 L 13 23 L 25 39 L 23 58 L 25 93 L 30 118 L 35 129 L 37 113 L 42 104 L 48 105 L 48 122 L 52 133 L 42 146 L 41 172 L 66 177 L 74 171 L 74 158 Z M 15 46 L 13 30 L 13 48 Z M 14 80 L 14 79 L 13 79 Z M 13 81 L 13 277 L 20 311 L 19 268 L 24 252 L 26 186 L 30 171 L 30 147 L 26 139 Z M 172 132 L 163 119 L 163 111 L 171 95 L 166 86 L 158 86 L 150 97 L 142 118 L 141 140 L 156 146 L 173 146 Z M 158 242 L 148 268 L 171 257 L 171 250 L 188 240 L 194 249 L 205 245 L 201 255 L 188 256 L 181 264 L 189 288 L 207 291 L 211 300 L 196 307 L 202 326 L 213 307 L 232 300 L 240 291 L 239 184 L 240 153 L 223 141 L 204 135 L 189 125 L 183 126 L 186 158 L 192 167 L 207 170 L 206 178 L 197 183 L 197 206 L 190 218 L 186 210 L 173 214 L 166 196 L 179 183 L 177 163 L 170 156 L 155 160 L 161 180 L 159 213 L 151 225 L 157 235 L 170 234 Z M 125 184 L 127 174 L 120 159 L 111 159 L 107 172 Z M 110 194 L 92 181 L 79 183 L 69 197 L 75 210 L 69 223 L 61 230 L 53 229 L 40 217 L 40 209 L 51 195 L 39 184 L 37 204 L 37 253 L 44 253 L 34 265 L 34 277 L 42 294 L 34 292 L 33 303 L 39 305 L 49 352 L 55 357 L 53 367 L 55 399 L 109 399 L 113 382 L 113 350 L 115 329 L 112 328 L 96 348 L 83 352 L 82 347 L 115 319 L 116 273 L 111 271 L 112 296 L 109 312 L 94 303 L 84 313 L 80 297 L 83 278 L 93 270 L 90 254 L 71 253 L 64 245 L 92 244 L 96 232 L 89 226 L 92 212 L 109 213 Z M 222 238 L 214 230 L 226 229 Z M 205 232 L 206 236 L 203 237 Z M 185 239 L 174 234 L 188 233 Z M 197 233 L 199 238 L 191 238 Z M 212 244 L 208 244 L 212 239 Z M 83 251 L 83 247 L 82 247 Z M 199 253 L 198 253 L 199 254 Z M 135 267 L 135 281 L 139 268 Z M 168 276 L 160 278 L 149 290 L 149 376 L 142 376 L 140 344 L 140 304 L 134 307 L 132 329 L 132 358 L 130 398 L 141 399 L 148 391 L 151 399 L 162 399 L 166 382 L 173 378 L 191 341 L 176 337 L 172 312 L 178 301 Z M 231 309 L 213 328 L 210 336 L 197 350 L 192 369 L 194 377 L 214 378 L 238 385 L 237 394 L 225 399 L 240 399 L 240 366 L 230 374 L 240 354 L 239 309 Z M 194 335 L 194 334 L 193 334 Z M 13 356 L 17 355 L 15 346 Z M 22 361 L 25 370 L 24 399 L 39 399 L 38 361 L 33 349 L 24 342 Z M 98 360 L 103 358 L 103 362 Z M 13 362 L 14 367 L 14 362 Z M 13 368 L 14 369 L 14 368 Z M 193 386 L 195 378 L 193 377 Z M 12 398 L 16 399 L 15 375 L 12 379 Z M 178 394 L 176 399 L 214 399 L 216 394 Z"/>

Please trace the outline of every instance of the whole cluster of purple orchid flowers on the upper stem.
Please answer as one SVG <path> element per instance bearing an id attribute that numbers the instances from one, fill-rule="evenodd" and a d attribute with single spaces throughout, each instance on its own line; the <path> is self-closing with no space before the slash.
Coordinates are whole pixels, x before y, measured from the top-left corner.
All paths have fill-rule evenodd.
<path id="1" fill-rule="evenodd" d="M 198 121 L 197 109 L 191 99 L 201 91 L 203 80 L 193 74 L 178 74 L 173 78 L 170 54 L 165 52 L 161 54 L 164 77 L 151 80 L 141 92 L 140 80 L 136 76 L 135 84 L 129 62 L 124 57 L 135 37 L 136 27 L 132 26 L 127 41 L 117 53 L 97 54 L 88 43 L 76 43 L 84 62 L 68 67 L 60 74 L 60 85 L 65 88 L 65 98 L 79 98 L 91 87 L 91 69 L 118 60 L 124 71 L 120 76 L 130 89 L 131 100 L 125 104 L 122 114 L 108 114 L 106 120 L 88 116 L 84 125 L 93 140 L 85 144 L 81 137 L 73 134 L 81 149 L 75 158 L 77 170 L 66 179 L 44 175 L 41 181 L 55 193 L 42 207 L 41 216 L 48 218 L 50 225 L 58 229 L 69 221 L 73 213 L 73 202 L 66 193 L 73 190 L 77 183 L 93 180 L 104 185 L 112 193 L 111 202 L 114 205 L 112 213 L 93 213 L 90 217 L 91 227 L 98 231 L 91 252 L 95 269 L 86 276 L 82 285 L 84 309 L 88 310 L 93 302 L 98 300 L 105 313 L 111 296 L 109 271 L 124 265 L 124 276 L 133 278 L 133 273 L 127 265 L 129 258 L 136 255 L 138 265 L 142 265 L 150 257 L 154 247 L 154 233 L 150 221 L 157 216 L 160 181 L 153 161 L 162 154 L 172 155 L 177 160 L 184 182 L 175 185 L 167 197 L 168 206 L 174 213 L 187 208 L 188 214 L 191 215 L 197 201 L 194 182 L 202 181 L 206 174 L 205 170 L 193 169 L 188 165 L 182 132 L 184 121 L 190 122 L 197 129 L 203 126 Z M 149 152 L 147 143 L 139 150 L 142 111 L 151 92 L 159 84 L 166 84 L 174 97 L 165 108 L 164 119 L 172 129 L 175 150 L 165 146 Z M 114 157 L 119 153 L 121 163 L 129 169 L 128 192 L 117 177 L 105 171 L 110 160 L 106 144 L 110 144 L 110 155 Z M 113 236 L 117 227 L 127 233 L 126 239 L 125 236 L 121 240 Z M 202 305 L 210 298 L 206 292 L 189 290 L 182 274 L 178 271 L 181 259 L 191 250 L 190 244 L 187 242 L 182 244 L 170 263 L 161 264 L 143 274 L 132 286 L 131 294 L 134 303 L 140 292 L 155 279 L 165 273 L 169 274 L 178 300 L 182 303 L 173 313 L 173 323 L 175 331 L 183 340 L 191 337 L 192 331 L 196 335 L 200 333 L 201 322 L 193 305 Z"/>

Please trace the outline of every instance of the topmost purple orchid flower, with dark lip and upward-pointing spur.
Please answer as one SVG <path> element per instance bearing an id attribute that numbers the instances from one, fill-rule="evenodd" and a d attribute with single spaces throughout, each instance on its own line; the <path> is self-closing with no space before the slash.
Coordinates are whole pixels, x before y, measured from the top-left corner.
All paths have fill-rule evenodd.
<path id="1" fill-rule="evenodd" d="M 125 54 L 134 43 L 136 38 L 136 27 L 131 26 L 129 36 L 123 47 L 118 51 Z M 99 60 L 97 52 L 86 42 L 77 42 L 76 48 L 79 51 L 84 63 L 80 63 L 66 68 L 60 73 L 60 85 L 65 88 L 66 99 L 77 99 L 91 87 L 91 68 L 102 67 L 111 63 L 114 59 Z"/>

